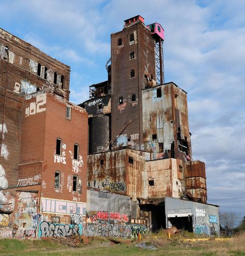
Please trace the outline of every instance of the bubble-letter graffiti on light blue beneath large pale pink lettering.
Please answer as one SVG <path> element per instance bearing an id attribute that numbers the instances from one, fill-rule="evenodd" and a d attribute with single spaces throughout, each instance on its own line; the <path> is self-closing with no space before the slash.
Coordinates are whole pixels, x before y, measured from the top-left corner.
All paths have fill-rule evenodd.
<path id="1" fill-rule="evenodd" d="M 59 224 L 42 221 L 40 223 L 39 237 L 65 237 L 71 235 L 81 235 L 81 224 Z"/>

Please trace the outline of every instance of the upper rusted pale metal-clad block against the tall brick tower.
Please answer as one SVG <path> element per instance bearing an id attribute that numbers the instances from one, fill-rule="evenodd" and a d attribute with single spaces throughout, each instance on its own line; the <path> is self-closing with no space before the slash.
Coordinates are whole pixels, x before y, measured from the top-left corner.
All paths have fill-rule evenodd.
<path id="1" fill-rule="evenodd" d="M 172 157 L 185 160 L 186 155 L 191 155 L 186 92 L 174 83 L 167 83 L 143 90 L 142 101 L 144 135 L 142 149 L 153 152 L 154 159 L 167 158 L 166 152 L 169 154 L 172 152 Z M 178 132 L 188 145 L 186 153 L 179 150 Z M 157 135 L 157 138 L 152 138 L 152 135 Z M 163 152 L 159 152 L 162 151 L 159 145 L 161 143 L 163 143 Z"/>

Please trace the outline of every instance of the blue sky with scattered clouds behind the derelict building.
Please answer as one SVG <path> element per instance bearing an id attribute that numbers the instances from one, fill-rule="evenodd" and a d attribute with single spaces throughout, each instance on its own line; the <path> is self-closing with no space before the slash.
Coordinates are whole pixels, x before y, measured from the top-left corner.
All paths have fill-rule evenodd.
<path id="1" fill-rule="evenodd" d="M 70 100 L 107 79 L 110 34 L 135 15 L 165 30 L 165 82 L 188 92 L 193 158 L 208 202 L 245 215 L 244 0 L 0 0 L 0 26 L 70 65 Z M 243 148 L 244 145 L 244 148 Z"/>

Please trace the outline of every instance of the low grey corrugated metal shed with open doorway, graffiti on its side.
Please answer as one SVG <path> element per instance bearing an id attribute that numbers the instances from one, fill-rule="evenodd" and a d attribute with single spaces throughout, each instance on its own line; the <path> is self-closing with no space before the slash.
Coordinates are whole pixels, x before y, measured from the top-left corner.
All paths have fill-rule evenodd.
<path id="1" fill-rule="evenodd" d="M 167 227 L 172 226 L 170 217 L 191 216 L 194 233 L 208 236 L 220 234 L 218 206 L 166 197 L 165 214 Z"/>

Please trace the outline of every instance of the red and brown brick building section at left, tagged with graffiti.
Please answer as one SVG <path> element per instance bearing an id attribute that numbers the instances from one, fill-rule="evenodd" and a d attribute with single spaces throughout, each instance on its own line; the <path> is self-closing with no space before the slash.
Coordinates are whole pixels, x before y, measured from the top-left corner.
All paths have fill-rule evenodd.
<path id="1" fill-rule="evenodd" d="M 87 113 L 69 102 L 70 67 L 0 35 L 2 226 L 17 238 L 64 232 L 66 224 L 67 233 L 82 233 Z"/>

